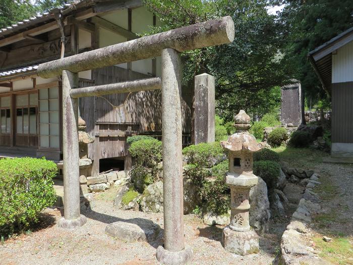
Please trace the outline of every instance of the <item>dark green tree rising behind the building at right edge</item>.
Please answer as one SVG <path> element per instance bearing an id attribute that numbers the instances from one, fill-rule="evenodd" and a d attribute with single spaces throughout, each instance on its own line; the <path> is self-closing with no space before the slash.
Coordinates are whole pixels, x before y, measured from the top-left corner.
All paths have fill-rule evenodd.
<path id="1" fill-rule="evenodd" d="M 285 44 L 283 54 L 291 60 L 302 90 L 311 104 L 327 101 L 329 91 L 324 91 L 312 66 L 308 52 L 335 37 L 353 24 L 351 0 L 284 0 L 279 14 Z"/>

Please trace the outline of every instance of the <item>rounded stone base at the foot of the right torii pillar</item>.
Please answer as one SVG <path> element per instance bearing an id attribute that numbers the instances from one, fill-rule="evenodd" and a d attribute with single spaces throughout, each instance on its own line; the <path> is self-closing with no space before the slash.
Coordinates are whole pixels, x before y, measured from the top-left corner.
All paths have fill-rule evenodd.
<path id="1" fill-rule="evenodd" d="M 157 248 L 156 257 L 161 264 L 184 265 L 193 260 L 194 253 L 190 247 L 185 247 L 180 251 L 169 251 L 159 246 Z"/>

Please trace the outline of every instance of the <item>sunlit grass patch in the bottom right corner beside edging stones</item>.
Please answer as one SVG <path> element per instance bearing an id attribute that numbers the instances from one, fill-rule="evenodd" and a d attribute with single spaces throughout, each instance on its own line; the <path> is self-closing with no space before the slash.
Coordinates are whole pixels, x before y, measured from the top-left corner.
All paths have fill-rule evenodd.
<path id="1" fill-rule="evenodd" d="M 320 256 L 334 264 L 353 265 L 353 244 L 351 237 L 333 237 L 325 242 L 322 237 L 314 238 L 315 246 L 321 250 Z"/>

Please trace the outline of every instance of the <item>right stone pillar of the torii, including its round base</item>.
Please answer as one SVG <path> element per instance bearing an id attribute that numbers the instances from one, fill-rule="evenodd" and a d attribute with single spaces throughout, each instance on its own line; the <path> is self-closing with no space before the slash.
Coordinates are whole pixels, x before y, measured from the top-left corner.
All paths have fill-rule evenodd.
<path id="1" fill-rule="evenodd" d="M 157 248 L 162 264 L 185 264 L 193 259 L 184 242 L 182 67 L 178 51 L 162 50 L 162 143 L 164 248 Z"/>

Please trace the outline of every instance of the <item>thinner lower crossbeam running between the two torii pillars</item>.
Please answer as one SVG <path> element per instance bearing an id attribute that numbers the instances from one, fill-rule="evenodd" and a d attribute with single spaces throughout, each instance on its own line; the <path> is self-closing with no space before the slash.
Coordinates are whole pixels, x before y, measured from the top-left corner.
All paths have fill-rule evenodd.
<path id="1" fill-rule="evenodd" d="M 70 90 L 70 96 L 73 98 L 78 98 L 85 96 L 100 96 L 108 94 L 138 92 L 145 90 L 156 90 L 160 88 L 160 78 L 152 77 L 107 85 L 75 88 Z"/>

